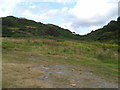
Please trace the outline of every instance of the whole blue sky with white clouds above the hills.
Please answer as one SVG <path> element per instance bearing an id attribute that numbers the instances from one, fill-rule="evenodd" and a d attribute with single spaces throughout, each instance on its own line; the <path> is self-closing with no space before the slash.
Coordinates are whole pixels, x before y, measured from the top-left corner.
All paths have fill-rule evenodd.
<path id="1" fill-rule="evenodd" d="M 118 17 L 119 0 L 0 0 L 0 17 L 55 24 L 80 35 Z"/>

